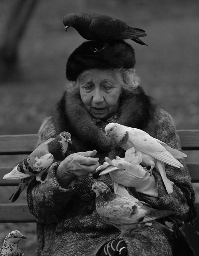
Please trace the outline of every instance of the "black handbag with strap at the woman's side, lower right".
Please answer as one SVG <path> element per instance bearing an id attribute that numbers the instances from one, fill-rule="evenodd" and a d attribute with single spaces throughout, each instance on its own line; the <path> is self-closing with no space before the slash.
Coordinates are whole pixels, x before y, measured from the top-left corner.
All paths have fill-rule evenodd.
<path id="1" fill-rule="evenodd" d="M 182 223 L 177 217 L 169 216 L 173 223 L 173 256 L 199 256 L 199 216 L 191 199 L 180 188 L 190 207 L 189 218 Z"/>

